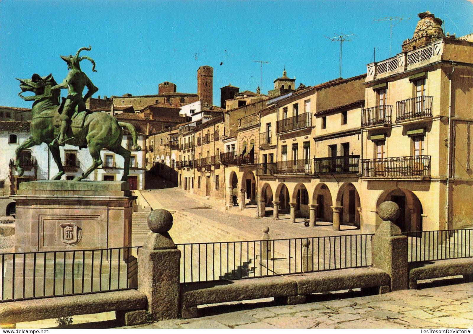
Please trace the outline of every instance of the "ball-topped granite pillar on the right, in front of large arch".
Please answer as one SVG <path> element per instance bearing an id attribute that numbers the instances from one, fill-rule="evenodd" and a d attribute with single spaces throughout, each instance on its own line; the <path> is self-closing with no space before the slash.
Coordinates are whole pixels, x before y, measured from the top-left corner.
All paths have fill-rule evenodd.
<path id="1" fill-rule="evenodd" d="M 399 206 L 391 201 L 378 207 L 383 222 L 371 239 L 373 267 L 384 270 L 391 278 L 391 291 L 408 288 L 407 237 L 393 223 L 399 217 Z"/>

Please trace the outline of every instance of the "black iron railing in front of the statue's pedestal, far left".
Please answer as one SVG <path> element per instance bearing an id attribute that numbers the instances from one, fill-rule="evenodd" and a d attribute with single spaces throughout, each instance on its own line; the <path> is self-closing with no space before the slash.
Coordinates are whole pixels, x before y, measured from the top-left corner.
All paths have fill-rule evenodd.
<path id="1" fill-rule="evenodd" d="M 0 302 L 136 289 L 138 248 L 0 254 Z"/>

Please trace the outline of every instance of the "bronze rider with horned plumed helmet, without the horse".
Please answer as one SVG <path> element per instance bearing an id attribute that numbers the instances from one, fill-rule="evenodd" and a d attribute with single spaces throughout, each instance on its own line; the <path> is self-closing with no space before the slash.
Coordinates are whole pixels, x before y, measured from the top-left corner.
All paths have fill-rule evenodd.
<path id="1" fill-rule="evenodd" d="M 98 88 L 94 86 L 92 81 L 87 77 L 87 75 L 81 71 L 79 62 L 81 60 L 87 59 L 92 63 L 92 71 L 96 72 L 95 61 L 87 56 L 79 57 L 80 51 L 87 50 L 90 51 L 91 47 L 80 48 L 75 56 L 61 56 L 61 59 L 67 62 L 67 68 L 70 70 L 67 74 L 67 77 L 62 81 L 61 84 L 51 87 L 51 90 L 56 89 L 66 89 L 68 90 L 66 101 L 64 102 L 64 107 L 61 112 L 61 129 L 59 131 L 59 136 L 54 139 L 50 144 L 53 146 L 56 142 L 59 146 L 64 146 L 65 142 L 70 139 L 66 139 L 66 133 L 70 127 L 70 120 L 74 115 L 74 112 L 80 112 L 86 110 L 85 101 L 91 97 Z M 82 91 L 84 87 L 88 88 L 87 94 L 82 97 Z"/>

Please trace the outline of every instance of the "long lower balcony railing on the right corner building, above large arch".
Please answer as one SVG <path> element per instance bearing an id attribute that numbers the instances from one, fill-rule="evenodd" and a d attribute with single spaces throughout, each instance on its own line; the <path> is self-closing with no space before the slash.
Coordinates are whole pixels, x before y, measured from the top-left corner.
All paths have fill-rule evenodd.
<path id="1" fill-rule="evenodd" d="M 363 176 L 370 178 L 430 176 L 430 155 L 364 159 L 361 165 Z"/>

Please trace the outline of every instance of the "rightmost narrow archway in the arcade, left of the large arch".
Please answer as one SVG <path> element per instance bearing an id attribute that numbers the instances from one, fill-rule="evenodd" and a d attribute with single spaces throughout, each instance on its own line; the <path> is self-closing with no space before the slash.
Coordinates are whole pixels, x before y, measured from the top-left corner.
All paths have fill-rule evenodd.
<path id="1" fill-rule="evenodd" d="M 341 206 L 340 222 L 360 228 L 359 211 L 361 207 L 358 190 L 353 183 L 343 183 L 337 194 L 337 206 Z"/>

